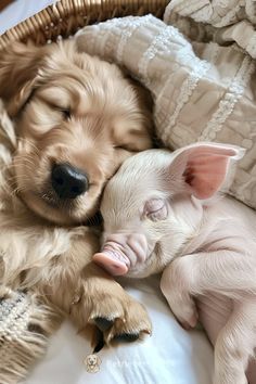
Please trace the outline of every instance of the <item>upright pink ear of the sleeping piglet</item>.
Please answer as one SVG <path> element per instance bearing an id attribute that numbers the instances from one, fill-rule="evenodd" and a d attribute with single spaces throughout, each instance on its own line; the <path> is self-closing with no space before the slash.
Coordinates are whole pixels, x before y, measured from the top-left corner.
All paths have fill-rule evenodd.
<path id="1" fill-rule="evenodd" d="M 178 151 L 172 166 L 182 169 L 182 176 L 200 200 L 212 197 L 226 181 L 230 161 L 243 157 L 239 146 L 217 143 L 196 143 Z"/>

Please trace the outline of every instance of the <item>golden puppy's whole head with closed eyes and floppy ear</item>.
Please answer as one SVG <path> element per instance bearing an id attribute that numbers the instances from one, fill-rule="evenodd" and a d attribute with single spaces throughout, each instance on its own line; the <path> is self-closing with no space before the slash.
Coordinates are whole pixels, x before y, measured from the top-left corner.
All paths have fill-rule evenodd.
<path id="1" fill-rule="evenodd" d="M 0 97 L 20 139 L 16 191 L 31 210 L 61 225 L 91 217 L 123 161 L 151 146 L 142 89 L 74 47 L 15 44 L 0 61 Z"/>

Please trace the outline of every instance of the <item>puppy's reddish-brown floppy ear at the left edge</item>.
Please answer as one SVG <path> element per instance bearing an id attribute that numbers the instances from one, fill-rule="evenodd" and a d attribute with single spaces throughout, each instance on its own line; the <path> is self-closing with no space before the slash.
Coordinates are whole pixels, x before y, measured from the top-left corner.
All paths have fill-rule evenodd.
<path id="1" fill-rule="evenodd" d="M 0 54 L 0 98 L 15 116 L 28 100 L 48 47 L 13 42 Z"/>

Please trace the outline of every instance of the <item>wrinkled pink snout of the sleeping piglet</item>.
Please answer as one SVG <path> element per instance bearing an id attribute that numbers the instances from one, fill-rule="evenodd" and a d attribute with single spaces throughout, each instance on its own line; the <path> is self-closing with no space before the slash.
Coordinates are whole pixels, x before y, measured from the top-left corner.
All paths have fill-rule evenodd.
<path id="1" fill-rule="evenodd" d="M 92 259 L 113 276 L 126 274 L 137 263 L 146 258 L 148 243 L 143 234 L 117 233 L 110 235 L 102 251 Z"/>

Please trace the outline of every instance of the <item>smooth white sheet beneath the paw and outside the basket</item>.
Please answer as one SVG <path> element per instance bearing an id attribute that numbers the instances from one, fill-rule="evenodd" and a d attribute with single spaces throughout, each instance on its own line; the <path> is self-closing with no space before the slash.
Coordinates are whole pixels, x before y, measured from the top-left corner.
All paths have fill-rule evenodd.
<path id="1" fill-rule="evenodd" d="M 53 0 L 18 0 L 0 13 L 0 34 L 35 14 Z M 84 360 L 90 345 L 64 323 L 52 337 L 46 358 L 25 384 L 210 384 L 213 349 L 201 331 L 185 332 L 174 319 L 158 289 L 157 279 L 127 283 L 153 322 L 153 335 L 143 343 L 102 349 L 98 373 L 87 373 Z"/>

